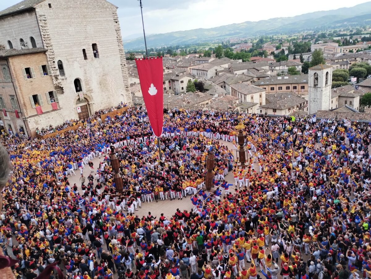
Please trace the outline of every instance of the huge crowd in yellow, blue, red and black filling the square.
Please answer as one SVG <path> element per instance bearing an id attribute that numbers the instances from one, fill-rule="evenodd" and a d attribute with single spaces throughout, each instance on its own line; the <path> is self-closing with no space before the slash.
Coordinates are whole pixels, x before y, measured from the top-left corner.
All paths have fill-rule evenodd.
<path id="1" fill-rule="evenodd" d="M 239 122 L 243 168 L 223 144 L 235 143 Z M 145 109 L 131 107 L 63 136 L 2 136 L 13 173 L 1 246 L 18 260 L 16 278 L 27 279 L 55 262 L 75 279 L 367 278 L 370 135 L 370 125 L 348 120 L 171 110 L 159 159 Z M 209 153 L 213 192 L 201 189 Z M 69 183 L 75 171 L 81 186 Z M 135 214 L 143 203 L 183 198 L 189 208 L 174 214 Z"/>

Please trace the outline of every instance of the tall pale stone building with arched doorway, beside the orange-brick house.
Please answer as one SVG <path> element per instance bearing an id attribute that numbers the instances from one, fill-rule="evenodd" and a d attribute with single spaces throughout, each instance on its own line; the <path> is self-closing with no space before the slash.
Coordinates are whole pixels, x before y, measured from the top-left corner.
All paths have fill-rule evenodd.
<path id="1" fill-rule="evenodd" d="M 26 0 L 0 11 L 0 44 L 47 50 L 48 79 L 60 107 L 53 125 L 120 102 L 132 103 L 116 10 L 105 0 Z M 26 117 L 32 115 L 27 107 L 25 112 Z M 50 124 L 46 116 L 35 119 L 29 119 L 30 129 Z"/>

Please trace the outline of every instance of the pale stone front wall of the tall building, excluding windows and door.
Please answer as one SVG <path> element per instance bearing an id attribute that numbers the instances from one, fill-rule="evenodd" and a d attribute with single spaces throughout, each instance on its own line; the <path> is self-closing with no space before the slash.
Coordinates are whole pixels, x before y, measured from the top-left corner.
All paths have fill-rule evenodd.
<path id="1" fill-rule="evenodd" d="M 80 80 L 83 94 L 91 96 L 89 106 L 93 111 L 121 101 L 131 103 L 114 5 L 104 0 L 50 0 L 36 7 L 36 15 L 64 115 L 78 118 L 73 102 L 78 95 L 75 79 Z M 92 44 L 97 45 L 99 58 L 94 58 Z M 60 76 L 58 60 L 63 63 L 65 77 Z"/>

